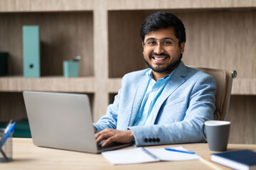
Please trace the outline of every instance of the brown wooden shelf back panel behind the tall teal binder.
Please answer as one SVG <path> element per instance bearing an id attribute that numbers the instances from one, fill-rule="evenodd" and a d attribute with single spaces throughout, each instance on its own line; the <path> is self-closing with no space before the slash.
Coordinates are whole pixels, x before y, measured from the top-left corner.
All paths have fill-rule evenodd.
<path id="1" fill-rule="evenodd" d="M 0 13 L 0 51 L 9 52 L 9 74 L 23 74 L 22 26 L 38 25 L 41 75 L 63 75 L 63 61 L 80 55 L 80 76 L 93 76 L 92 12 Z"/>

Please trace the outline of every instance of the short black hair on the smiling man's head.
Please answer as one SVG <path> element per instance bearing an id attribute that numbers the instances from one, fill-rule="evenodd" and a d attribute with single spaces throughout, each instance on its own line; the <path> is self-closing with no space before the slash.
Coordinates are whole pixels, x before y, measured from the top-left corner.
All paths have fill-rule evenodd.
<path id="1" fill-rule="evenodd" d="M 152 13 L 146 18 L 144 23 L 142 23 L 142 27 L 139 30 L 142 42 L 144 42 L 145 35 L 151 31 L 171 27 L 174 28 L 175 36 L 179 40 L 178 45 L 181 45 L 182 42 L 186 42 L 186 32 L 182 21 L 173 13 L 166 11 Z"/>

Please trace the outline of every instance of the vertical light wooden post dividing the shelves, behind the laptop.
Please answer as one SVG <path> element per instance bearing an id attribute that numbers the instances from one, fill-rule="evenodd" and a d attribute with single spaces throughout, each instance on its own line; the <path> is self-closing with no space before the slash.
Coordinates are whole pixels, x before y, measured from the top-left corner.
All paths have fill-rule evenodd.
<path id="1" fill-rule="evenodd" d="M 93 15 L 94 25 L 94 53 L 95 53 L 95 114 L 93 120 L 96 122 L 107 111 L 108 94 L 107 94 L 107 77 L 109 72 L 108 57 L 108 35 L 107 35 L 107 19 L 108 14 L 105 8 L 107 1 L 98 1 L 95 6 L 95 13 Z"/>

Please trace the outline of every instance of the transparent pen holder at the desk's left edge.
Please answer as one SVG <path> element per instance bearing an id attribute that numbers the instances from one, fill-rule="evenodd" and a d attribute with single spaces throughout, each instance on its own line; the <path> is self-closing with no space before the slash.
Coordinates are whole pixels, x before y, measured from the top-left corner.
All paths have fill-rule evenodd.
<path id="1" fill-rule="evenodd" d="M 12 160 L 12 135 L 11 132 L 10 136 L 4 143 L 4 145 L 0 148 L 0 163 L 1 162 L 10 162 Z M 0 129 L 0 141 L 4 136 L 4 129 Z M 0 145 L 1 146 L 1 145 Z"/>

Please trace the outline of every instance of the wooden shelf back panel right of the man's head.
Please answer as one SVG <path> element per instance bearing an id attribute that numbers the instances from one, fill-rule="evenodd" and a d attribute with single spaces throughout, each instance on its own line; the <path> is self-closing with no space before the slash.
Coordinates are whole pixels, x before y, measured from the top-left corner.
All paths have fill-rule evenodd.
<path id="1" fill-rule="evenodd" d="M 183 61 L 256 77 L 256 11 L 176 13 L 186 26 Z"/>

